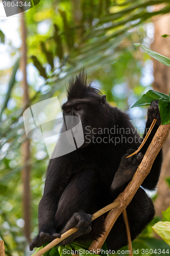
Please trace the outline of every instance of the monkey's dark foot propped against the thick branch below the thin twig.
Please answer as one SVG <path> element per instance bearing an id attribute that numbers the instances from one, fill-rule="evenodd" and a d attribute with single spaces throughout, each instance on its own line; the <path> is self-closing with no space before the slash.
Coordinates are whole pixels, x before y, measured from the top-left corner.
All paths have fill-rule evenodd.
<path id="1" fill-rule="evenodd" d="M 141 153 L 138 153 L 137 155 L 126 158 L 133 152 L 135 152 L 135 150 L 128 150 L 127 154 L 122 157 L 118 170 L 115 173 L 114 179 L 110 186 L 111 192 L 115 191 L 118 187 L 126 184 L 135 174 L 137 167 L 143 158 L 143 155 Z"/>

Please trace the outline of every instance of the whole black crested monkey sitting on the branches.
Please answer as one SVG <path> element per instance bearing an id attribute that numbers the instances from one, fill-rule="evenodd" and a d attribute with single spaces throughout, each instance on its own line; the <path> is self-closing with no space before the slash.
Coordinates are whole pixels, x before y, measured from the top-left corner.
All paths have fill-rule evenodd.
<path id="1" fill-rule="evenodd" d="M 67 98 L 62 106 L 63 116 L 77 116 L 81 120 L 85 141 L 76 151 L 50 160 L 43 197 L 39 203 L 39 234 L 31 242 L 30 250 L 59 238 L 63 232 L 74 226 L 79 230 L 64 240 L 62 245 L 74 239 L 86 241 L 99 238 L 104 232 L 106 215 L 93 222 L 91 215 L 112 203 L 124 190 L 161 122 L 158 102 L 153 101 L 148 109 L 143 137 L 153 119 L 157 118 L 154 129 L 141 153 L 127 159 L 126 156 L 140 145 L 140 136 L 126 113 L 111 106 L 106 102 L 106 95 L 87 85 L 84 71 L 70 79 Z M 143 188 L 155 189 L 161 163 L 160 151 L 150 174 L 142 183 Z M 142 187 L 137 190 L 127 207 L 132 240 L 155 214 L 152 200 Z M 127 244 L 122 215 L 118 217 L 106 243 L 108 249 L 112 250 Z"/>

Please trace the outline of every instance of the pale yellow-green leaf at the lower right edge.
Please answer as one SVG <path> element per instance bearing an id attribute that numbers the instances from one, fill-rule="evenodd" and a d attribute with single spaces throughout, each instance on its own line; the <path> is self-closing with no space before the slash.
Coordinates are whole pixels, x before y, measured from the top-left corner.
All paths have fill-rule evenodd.
<path id="1" fill-rule="evenodd" d="M 152 228 L 168 245 L 170 245 L 170 222 L 159 221 Z"/>

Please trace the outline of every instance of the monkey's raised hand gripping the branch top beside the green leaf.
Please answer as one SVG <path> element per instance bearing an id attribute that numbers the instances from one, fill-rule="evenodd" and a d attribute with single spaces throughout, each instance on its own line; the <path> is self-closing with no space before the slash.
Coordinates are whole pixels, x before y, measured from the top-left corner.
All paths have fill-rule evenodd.
<path id="1" fill-rule="evenodd" d="M 154 118 L 157 119 L 156 124 L 161 123 L 160 112 L 159 112 L 159 100 L 152 101 L 151 105 L 148 108 L 148 120 L 152 123 Z"/>

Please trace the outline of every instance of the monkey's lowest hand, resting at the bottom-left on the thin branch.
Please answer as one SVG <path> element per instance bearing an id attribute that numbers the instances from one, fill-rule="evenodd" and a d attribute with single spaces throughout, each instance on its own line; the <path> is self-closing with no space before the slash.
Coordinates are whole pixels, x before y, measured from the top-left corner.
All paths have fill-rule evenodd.
<path id="1" fill-rule="evenodd" d="M 41 247 L 43 244 L 45 244 L 48 241 L 53 241 L 56 238 L 60 238 L 61 234 L 54 232 L 46 233 L 46 232 L 40 232 L 38 236 L 35 236 L 33 238 L 32 242 L 30 243 L 30 251 L 34 249 L 34 247 Z"/>

